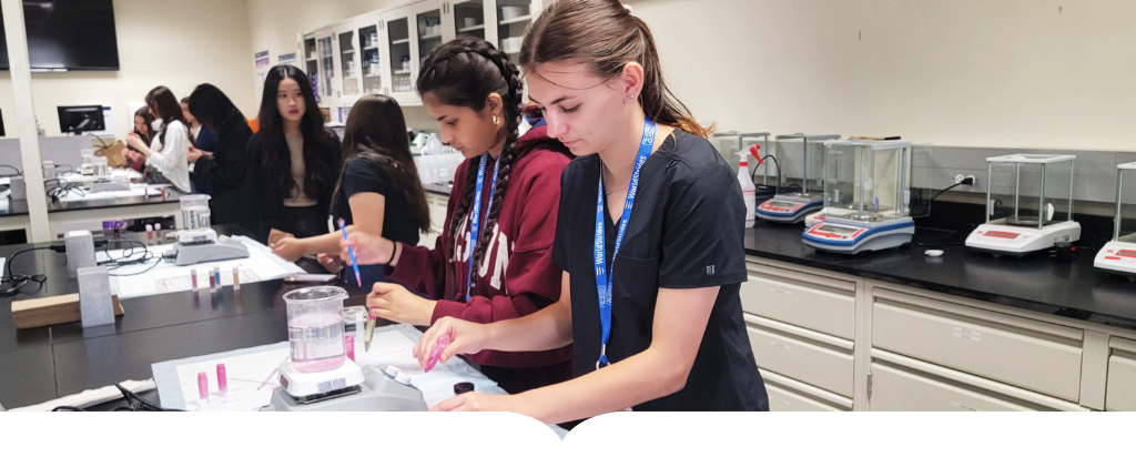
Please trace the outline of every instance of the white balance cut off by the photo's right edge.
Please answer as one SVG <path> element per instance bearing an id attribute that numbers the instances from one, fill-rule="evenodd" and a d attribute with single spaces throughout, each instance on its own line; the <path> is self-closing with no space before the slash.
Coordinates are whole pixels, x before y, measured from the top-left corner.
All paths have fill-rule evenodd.
<path id="1" fill-rule="evenodd" d="M 1136 185 L 1129 181 L 1126 188 L 1126 176 L 1129 180 L 1136 177 L 1136 161 L 1117 166 L 1117 214 L 1112 241 L 1101 248 L 1093 265 L 1136 281 Z"/>

